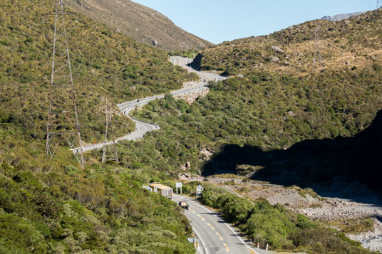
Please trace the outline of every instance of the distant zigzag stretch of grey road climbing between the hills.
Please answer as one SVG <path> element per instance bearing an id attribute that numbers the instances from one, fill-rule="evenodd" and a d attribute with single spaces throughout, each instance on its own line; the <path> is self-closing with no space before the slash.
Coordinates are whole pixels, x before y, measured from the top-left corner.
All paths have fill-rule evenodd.
<path id="1" fill-rule="evenodd" d="M 175 91 L 170 92 L 170 94 L 172 94 L 174 96 L 186 95 L 187 93 L 190 93 L 190 92 L 198 92 L 200 90 L 203 90 L 207 86 L 208 81 L 210 81 L 210 80 L 224 80 L 224 77 L 222 77 L 220 75 L 216 75 L 214 73 L 203 73 L 201 71 L 197 71 L 197 70 L 194 70 L 194 69 L 188 67 L 187 63 L 192 62 L 191 58 L 182 58 L 180 56 L 175 56 L 175 57 L 171 57 L 170 60 L 174 65 L 179 65 L 182 68 L 185 68 L 186 70 L 188 70 L 189 72 L 196 73 L 202 79 L 201 82 L 195 83 L 194 85 L 192 85 L 190 87 L 181 88 L 179 90 L 175 90 Z M 141 107 L 143 105 L 148 104 L 148 102 L 150 102 L 151 100 L 159 100 L 159 99 L 162 99 L 163 97 L 165 97 L 165 95 L 163 95 L 163 94 L 162 95 L 155 95 L 155 96 L 151 96 L 151 97 L 145 97 L 143 99 L 132 100 L 130 102 L 123 102 L 121 104 L 118 104 L 117 106 L 120 109 L 120 111 L 123 112 L 124 115 L 126 115 L 127 117 L 129 117 L 130 119 L 132 119 L 135 122 L 135 131 L 130 133 L 130 134 L 126 134 L 123 137 L 119 137 L 118 139 L 115 139 L 115 142 L 118 143 L 120 140 L 140 139 L 146 133 L 152 132 L 155 129 L 160 129 L 160 127 L 158 125 L 155 125 L 152 122 L 144 122 L 141 120 L 137 120 L 134 117 L 131 117 L 129 115 L 129 112 L 131 110 L 134 110 L 136 107 Z M 83 152 L 88 152 L 88 151 L 91 151 L 93 149 L 103 148 L 103 146 L 105 146 L 105 145 L 109 146 L 111 144 L 113 144 L 113 142 L 107 142 L 105 144 L 104 143 L 89 144 L 89 145 L 83 146 L 82 149 L 83 149 Z M 75 154 L 78 153 L 79 150 L 80 150 L 79 147 L 71 149 L 71 151 L 73 151 L 73 153 L 75 153 Z"/>

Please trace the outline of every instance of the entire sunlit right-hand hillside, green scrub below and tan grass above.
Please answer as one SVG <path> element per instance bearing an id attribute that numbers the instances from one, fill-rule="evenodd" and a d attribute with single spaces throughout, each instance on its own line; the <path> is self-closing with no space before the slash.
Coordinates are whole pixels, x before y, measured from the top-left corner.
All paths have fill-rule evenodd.
<path id="1" fill-rule="evenodd" d="M 381 60 L 375 55 L 381 46 L 377 43 L 382 34 L 381 14 L 381 10 L 371 11 L 351 19 L 353 23 L 349 24 L 311 21 L 274 33 L 269 38 L 247 38 L 228 43 L 231 46 L 222 45 L 204 51 L 200 55 L 202 68 L 210 65 L 226 73 L 243 73 L 244 78 L 211 83 L 211 92 L 192 105 L 167 97 L 136 112 L 136 116 L 154 120 L 162 126 L 159 132 L 149 135 L 151 141 L 146 145 L 158 151 L 153 152 L 153 156 L 162 158 L 162 162 L 170 158 L 167 167 L 174 174 L 187 161 L 191 162 L 195 173 L 205 169 L 209 174 L 207 169 L 219 172 L 220 167 L 205 168 L 204 149 L 219 154 L 222 147 L 237 144 L 239 147 L 249 145 L 270 151 L 288 149 L 306 139 L 353 137 L 371 124 L 382 107 Z M 306 63 L 306 67 L 293 66 L 292 61 L 299 59 L 291 59 L 288 66 L 264 60 L 266 53 L 269 57 L 279 55 L 282 58 L 272 49 L 272 42 L 277 40 L 284 42 L 283 48 L 308 52 L 309 48 L 304 44 L 309 44 L 306 38 L 310 36 L 310 30 L 307 28 L 314 30 L 316 23 L 336 28 L 328 28 L 328 34 L 323 38 L 354 46 L 352 59 L 356 61 L 351 62 L 351 67 L 343 65 L 336 57 L 343 51 L 341 47 L 326 48 L 324 67 L 315 72 L 311 71 L 311 63 Z M 344 31 L 341 25 L 349 27 Z M 256 59 L 251 58 L 254 63 L 249 65 L 247 60 L 243 60 L 249 59 L 252 52 L 248 50 L 245 56 L 247 46 L 257 48 L 260 53 L 256 53 L 254 58 L 264 62 L 257 64 Z M 235 47 L 238 52 L 224 51 Z M 365 55 L 358 57 L 356 49 L 361 47 Z M 212 54 L 213 51 L 219 53 Z M 306 55 L 311 61 L 313 56 Z M 334 56 L 329 58 L 329 55 Z M 212 57 L 215 60 L 209 62 Z M 157 140 L 156 145 L 149 144 L 153 139 Z M 344 171 L 341 173 L 346 175 Z"/>

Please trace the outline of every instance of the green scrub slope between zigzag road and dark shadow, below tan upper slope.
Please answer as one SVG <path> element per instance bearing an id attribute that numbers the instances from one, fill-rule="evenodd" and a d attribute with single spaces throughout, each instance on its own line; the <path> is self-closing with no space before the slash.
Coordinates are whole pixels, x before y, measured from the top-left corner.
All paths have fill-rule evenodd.
<path id="1" fill-rule="evenodd" d="M 218 154 L 224 145 L 236 144 L 267 151 L 305 139 L 353 136 L 382 107 L 381 90 L 381 75 L 371 68 L 306 78 L 253 72 L 251 79 L 211 83 L 210 93 L 192 105 L 169 95 L 134 113 L 161 126 L 142 141 L 158 151 L 153 160 L 170 159 L 174 172 L 189 161 L 197 171 L 204 164 L 202 149 Z"/>

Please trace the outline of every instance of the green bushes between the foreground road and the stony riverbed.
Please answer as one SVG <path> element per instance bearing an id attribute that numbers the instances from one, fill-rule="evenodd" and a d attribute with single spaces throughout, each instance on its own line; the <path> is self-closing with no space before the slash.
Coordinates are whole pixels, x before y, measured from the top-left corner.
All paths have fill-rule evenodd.
<path id="1" fill-rule="evenodd" d="M 294 252 L 371 253 L 344 233 L 319 226 L 282 205 L 272 206 L 264 199 L 251 203 L 211 184 L 203 185 L 201 201 L 219 208 L 228 221 L 263 248 L 268 243 L 273 249 Z"/>

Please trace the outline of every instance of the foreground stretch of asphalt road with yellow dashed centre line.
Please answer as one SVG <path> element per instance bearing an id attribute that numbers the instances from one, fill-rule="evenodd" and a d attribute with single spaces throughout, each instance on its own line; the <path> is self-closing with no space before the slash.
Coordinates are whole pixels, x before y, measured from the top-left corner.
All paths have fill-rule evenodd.
<path id="1" fill-rule="evenodd" d="M 266 250 L 252 248 L 232 226 L 224 221 L 219 213 L 210 211 L 190 197 L 174 194 L 173 200 L 177 203 L 187 201 L 190 206 L 189 210 L 185 210 L 185 216 L 190 221 L 197 238 L 200 239 L 199 253 L 270 253 Z"/>

